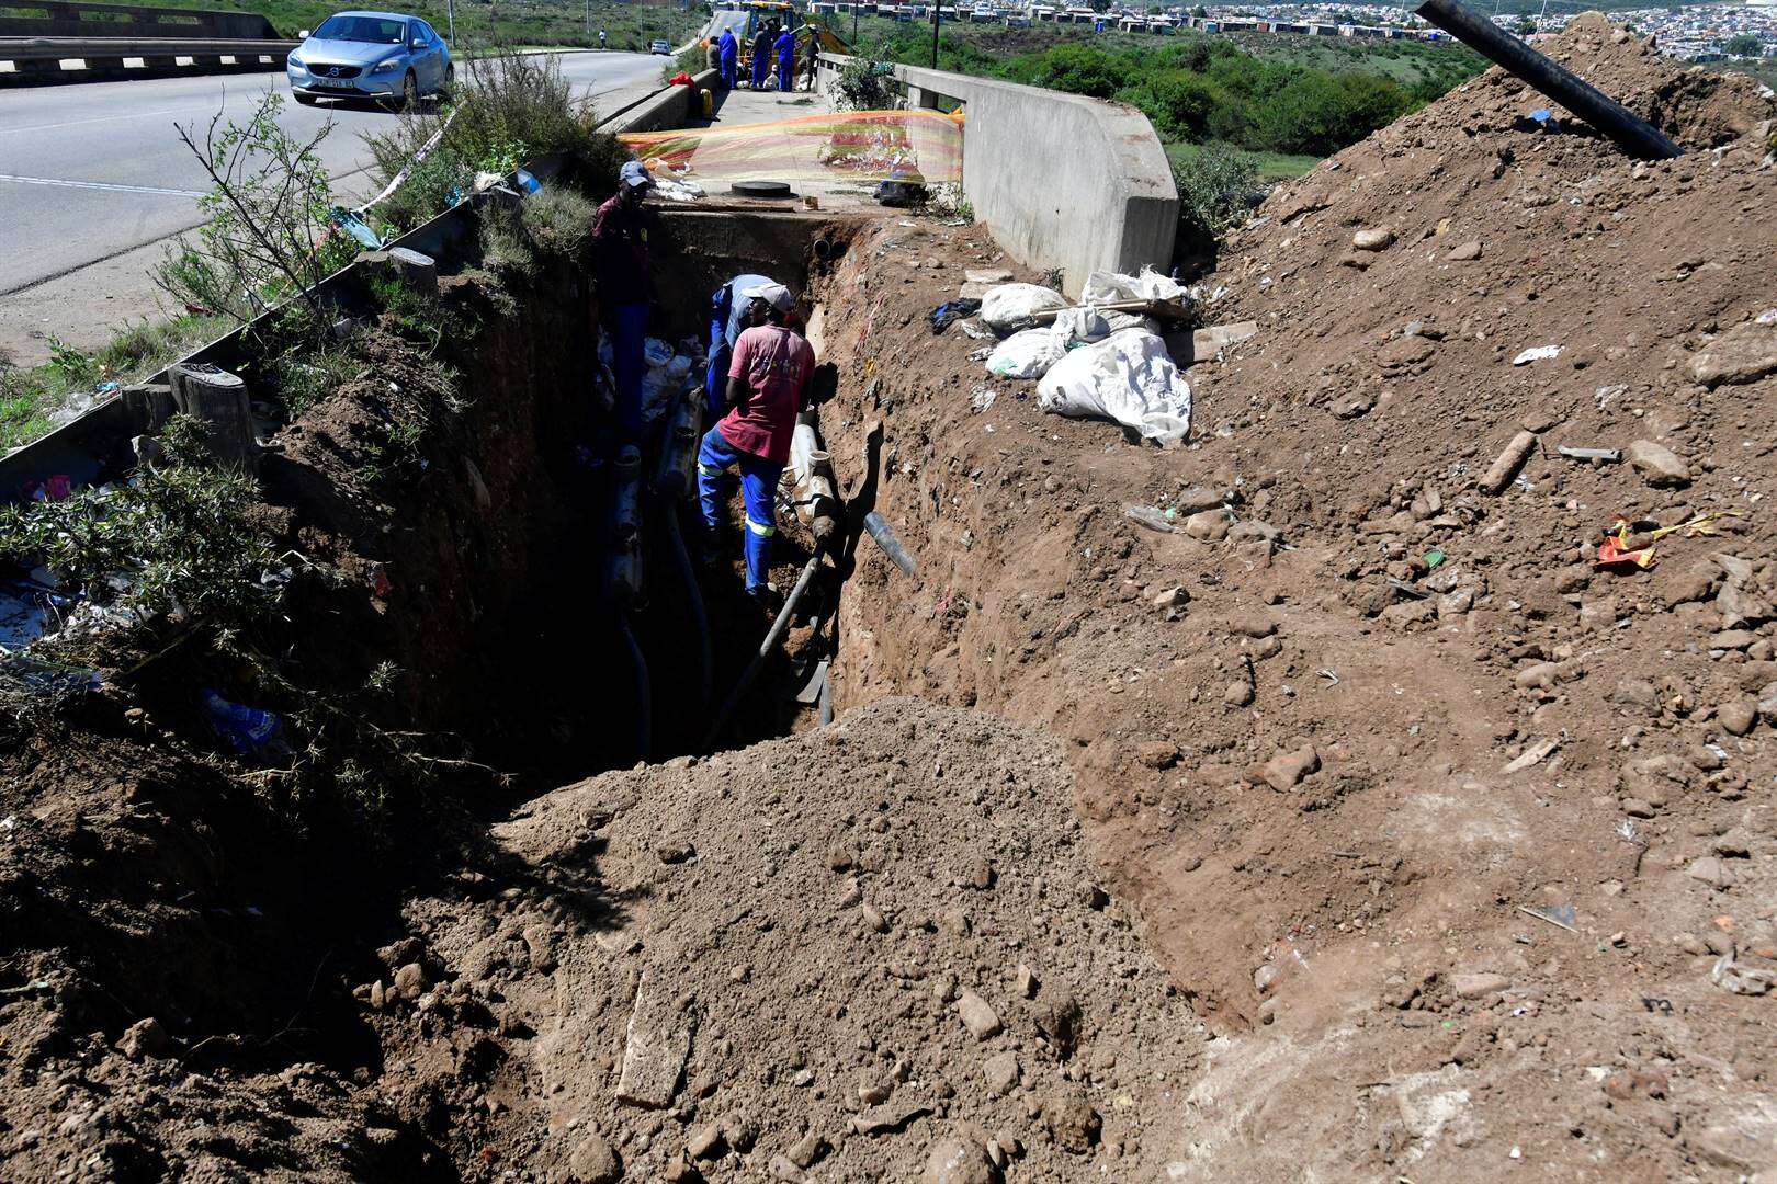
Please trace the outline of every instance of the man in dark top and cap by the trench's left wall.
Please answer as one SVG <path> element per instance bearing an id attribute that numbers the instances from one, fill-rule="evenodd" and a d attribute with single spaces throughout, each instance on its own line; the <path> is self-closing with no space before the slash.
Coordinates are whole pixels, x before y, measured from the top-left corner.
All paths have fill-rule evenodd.
<path id="1" fill-rule="evenodd" d="M 592 252 L 604 325 L 611 334 L 617 422 L 626 444 L 641 438 L 641 378 L 647 373 L 649 231 L 656 215 L 643 202 L 654 178 L 631 160 L 617 172 L 617 193 L 592 218 Z"/>

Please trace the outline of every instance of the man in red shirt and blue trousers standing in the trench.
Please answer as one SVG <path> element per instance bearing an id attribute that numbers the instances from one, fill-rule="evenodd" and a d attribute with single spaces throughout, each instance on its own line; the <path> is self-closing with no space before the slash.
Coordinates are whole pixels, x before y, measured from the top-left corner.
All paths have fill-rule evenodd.
<path id="1" fill-rule="evenodd" d="M 729 362 L 729 414 L 704 433 L 697 453 L 697 493 L 711 550 L 721 511 L 734 492 L 729 469 L 741 470 L 746 501 L 746 595 L 771 607 L 771 536 L 777 534 L 777 485 L 789 462 L 796 415 L 809 405 L 814 348 L 787 321 L 796 296 L 782 284 L 761 284 L 739 296 L 752 300 L 752 327 L 734 341 Z"/>

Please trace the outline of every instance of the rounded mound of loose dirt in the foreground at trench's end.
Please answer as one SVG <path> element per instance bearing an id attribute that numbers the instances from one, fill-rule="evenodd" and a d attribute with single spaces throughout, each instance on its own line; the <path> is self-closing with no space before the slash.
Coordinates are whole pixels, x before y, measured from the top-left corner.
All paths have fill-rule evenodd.
<path id="1" fill-rule="evenodd" d="M 409 907 L 398 957 L 444 985 L 379 1028 L 416 1046 L 403 1088 L 494 1065 L 458 1131 L 494 1166 L 1153 1177 L 1198 1037 L 1093 888 L 1070 779 L 1050 740 L 892 699 L 569 786 L 494 829 L 499 893 Z M 466 1053 L 450 1008 L 499 1037 Z"/>

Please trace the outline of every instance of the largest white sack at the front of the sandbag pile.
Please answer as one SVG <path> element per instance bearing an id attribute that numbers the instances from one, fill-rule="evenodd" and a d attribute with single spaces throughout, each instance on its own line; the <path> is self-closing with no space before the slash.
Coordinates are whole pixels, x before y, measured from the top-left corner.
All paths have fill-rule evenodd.
<path id="1" fill-rule="evenodd" d="M 1036 385 L 1036 405 L 1075 419 L 1114 419 L 1148 440 L 1191 433 L 1191 385 L 1166 343 L 1143 328 L 1070 351 Z"/>

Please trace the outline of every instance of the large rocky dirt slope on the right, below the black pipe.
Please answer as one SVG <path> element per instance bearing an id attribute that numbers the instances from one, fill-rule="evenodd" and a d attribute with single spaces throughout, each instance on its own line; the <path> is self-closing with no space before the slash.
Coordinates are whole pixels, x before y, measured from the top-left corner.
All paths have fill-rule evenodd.
<path id="1" fill-rule="evenodd" d="M 1226 1033 L 1199 1173 L 1777 1159 L 1741 992 L 1777 953 L 1772 105 L 1594 18 L 1548 48 L 1692 151 L 1541 130 L 1491 71 L 1342 153 L 1205 277 L 1207 320 L 1253 335 L 1191 369 L 1180 451 L 929 337 L 990 241 L 892 227 L 841 277 L 865 398 L 828 442 L 887 417 L 883 513 L 920 557 L 908 584 L 865 554 L 842 701 L 1070 742 L 1107 888 Z M 1727 509 L 1651 570 L 1592 566 L 1619 513 L 1646 541 Z"/>

